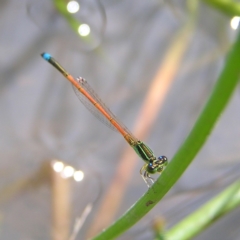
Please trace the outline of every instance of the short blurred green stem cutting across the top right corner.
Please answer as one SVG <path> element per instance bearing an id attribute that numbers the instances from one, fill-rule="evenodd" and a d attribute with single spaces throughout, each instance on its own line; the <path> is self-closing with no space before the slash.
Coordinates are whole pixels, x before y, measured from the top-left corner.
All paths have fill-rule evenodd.
<path id="1" fill-rule="evenodd" d="M 230 0 L 203 0 L 203 2 L 228 16 L 240 16 L 240 4 L 237 2 Z"/>

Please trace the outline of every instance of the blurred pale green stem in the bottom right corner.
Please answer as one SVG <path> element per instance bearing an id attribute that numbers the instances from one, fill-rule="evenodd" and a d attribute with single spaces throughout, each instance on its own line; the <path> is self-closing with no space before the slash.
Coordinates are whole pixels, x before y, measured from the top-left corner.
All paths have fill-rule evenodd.
<path id="1" fill-rule="evenodd" d="M 167 233 L 166 240 L 192 239 L 221 216 L 240 205 L 240 181 L 233 183 L 218 196 L 176 224 Z M 160 239 L 160 238 L 159 238 Z"/>

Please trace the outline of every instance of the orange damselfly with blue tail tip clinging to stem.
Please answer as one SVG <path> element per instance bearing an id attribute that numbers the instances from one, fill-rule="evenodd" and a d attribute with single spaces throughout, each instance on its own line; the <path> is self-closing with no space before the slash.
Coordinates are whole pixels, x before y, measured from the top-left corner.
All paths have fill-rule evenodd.
<path id="1" fill-rule="evenodd" d="M 140 174 L 146 184 L 150 186 L 149 182 L 151 184 L 154 182 L 154 179 L 150 174 L 161 173 L 168 163 L 167 158 L 165 156 L 156 158 L 153 151 L 145 143 L 134 137 L 133 134 L 119 120 L 117 120 L 116 116 L 103 103 L 85 79 L 82 77 L 75 79 L 54 58 L 52 58 L 50 54 L 42 53 L 41 56 L 51 63 L 72 83 L 74 92 L 85 107 L 87 107 L 98 119 L 121 133 L 138 156 L 145 161 L 145 164 L 140 170 Z"/>

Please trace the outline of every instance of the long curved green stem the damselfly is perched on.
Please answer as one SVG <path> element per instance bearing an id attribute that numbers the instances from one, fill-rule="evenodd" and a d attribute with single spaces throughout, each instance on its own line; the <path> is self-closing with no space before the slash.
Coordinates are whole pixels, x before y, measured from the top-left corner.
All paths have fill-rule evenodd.
<path id="1" fill-rule="evenodd" d="M 114 239 L 146 215 L 180 178 L 197 155 L 226 107 L 240 76 L 240 34 L 225 61 L 212 94 L 189 136 L 154 185 L 113 225 L 94 240 Z"/>

